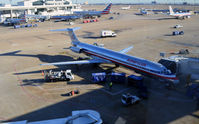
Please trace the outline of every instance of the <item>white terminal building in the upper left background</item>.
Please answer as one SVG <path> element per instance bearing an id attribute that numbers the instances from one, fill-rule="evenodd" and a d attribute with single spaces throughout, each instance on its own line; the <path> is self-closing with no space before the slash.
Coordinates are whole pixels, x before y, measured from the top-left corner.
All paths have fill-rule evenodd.
<path id="1" fill-rule="evenodd" d="M 73 11 L 81 11 L 79 4 L 71 0 L 23 0 L 17 5 L 4 4 L 0 6 L 0 22 L 5 18 L 16 18 L 26 13 L 29 15 L 67 15 Z"/>

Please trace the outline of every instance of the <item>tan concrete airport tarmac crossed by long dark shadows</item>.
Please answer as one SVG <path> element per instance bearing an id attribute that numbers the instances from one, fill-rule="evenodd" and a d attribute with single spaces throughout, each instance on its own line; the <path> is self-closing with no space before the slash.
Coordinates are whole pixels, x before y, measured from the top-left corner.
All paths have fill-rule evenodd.
<path id="1" fill-rule="evenodd" d="M 107 90 L 105 84 L 94 84 L 91 73 L 103 72 L 112 65 L 40 66 L 42 63 L 70 61 L 79 54 L 71 52 L 70 39 L 65 32 L 50 32 L 52 29 L 81 27 L 76 31 L 80 41 L 104 44 L 108 49 L 119 51 L 133 45 L 129 55 L 152 61 L 160 59 L 160 52 L 178 52 L 189 49 L 199 52 L 199 16 L 177 20 L 166 15 L 134 15 L 134 9 L 120 10 L 114 6 L 112 12 L 101 17 L 99 22 L 82 24 L 82 20 L 70 26 L 67 22 L 38 23 L 37 28 L 12 29 L 0 27 L 0 120 L 40 121 L 70 116 L 73 110 L 93 109 L 101 114 L 105 124 L 197 124 L 199 122 L 199 103 L 187 97 L 184 81 L 176 90 L 167 90 L 164 83 L 146 79 L 150 96 L 139 104 L 124 107 L 121 94 L 136 89 L 124 84 L 114 84 Z M 104 6 L 97 6 L 101 10 Z M 113 16 L 113 20 L 108 18 Z M 181 36 L 171 36 L 176 24 L 184 27 Z M 114 30 L 115 38 L 100 38 L 100 31 Z M 80 55 L 83 56 L 83 55 Z M 108 67 L 107 67 L 108 66 Z M 109 67 L 110 66 L 110 67 Z M 45 69 L 71 69 L 75 79 L 70 82 L 43 81 L 41 74 Z M 116 72 L 133 71 L 119 67 Z M 79 89 L 80 94 L 67 97 L 65 93 Z"/>

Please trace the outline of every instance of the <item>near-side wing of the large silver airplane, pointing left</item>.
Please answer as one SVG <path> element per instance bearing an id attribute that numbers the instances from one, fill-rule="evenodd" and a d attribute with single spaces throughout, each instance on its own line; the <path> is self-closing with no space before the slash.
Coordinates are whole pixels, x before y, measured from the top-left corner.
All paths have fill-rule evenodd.
<path id="1" fill-rule="evenodd" d="M 90 60 L 80 60 L 80 61 L 68 61 L 68 62 L 55 62 L 55 63 L 46 63 L 40 65 L 79 65 L 79 64 L 91 64 L 91 63 L 110 63 L 108 61 L 103 61 L 101 59 L 90 59 Z"/>

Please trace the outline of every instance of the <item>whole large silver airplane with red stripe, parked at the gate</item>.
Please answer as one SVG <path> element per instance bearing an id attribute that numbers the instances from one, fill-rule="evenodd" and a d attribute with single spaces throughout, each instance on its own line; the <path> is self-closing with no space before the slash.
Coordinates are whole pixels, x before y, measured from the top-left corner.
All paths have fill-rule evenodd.
<path id="1" fill-rule="evenodd" d="M 178 83 L 179 80 L 175 73 L 172 73 L 164 65 L 152 62 L 143 58 L 138 58 L 135 56 L 127 55 L 126 53 L 130 51 L 133 46 L 123 49 L 119 52 L 106 49 L 104 47 L 91 45 L 87 43 L 80 42 L 76 37 L 74 31 L 80 29 L 79 27 L 67 28 L 67 29 L 57 29 L 51 31 L 67 31 L 69 33 L 71 44 L 70 50 L 75 53 L 83 53 L 90 56 L 92 59 L 89 60 L 79 60 L 79 61 L 67 61 L 67 62 L 55 62 L 46 63 L 41 65 L 72 65 L 72 64 L 100 64 L 100 63 L 111 63 L 116 66 L 122 65 L 126 68 L 132 69 L 137 73 L 158 77 L 160 79 L 170 80 Z"/>

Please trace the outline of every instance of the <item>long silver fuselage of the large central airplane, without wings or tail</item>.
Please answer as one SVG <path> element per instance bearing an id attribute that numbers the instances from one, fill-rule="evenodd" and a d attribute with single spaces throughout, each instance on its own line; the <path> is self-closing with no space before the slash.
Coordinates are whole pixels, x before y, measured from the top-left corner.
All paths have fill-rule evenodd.
<path id="1" fill-rule="evenodd" d="M 177 80 L 176 75 L 171 74 L 171 72 L 162 64 L 87 43 L 75 42 L 73 45 L 77 49 L 80 49 L 81 53 L 85 53 L 86 55 L 95 56 L 111 63 L 122 65 L 137 72 L 144 73 L 146 75 L 169 80 Z"/>

